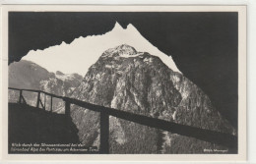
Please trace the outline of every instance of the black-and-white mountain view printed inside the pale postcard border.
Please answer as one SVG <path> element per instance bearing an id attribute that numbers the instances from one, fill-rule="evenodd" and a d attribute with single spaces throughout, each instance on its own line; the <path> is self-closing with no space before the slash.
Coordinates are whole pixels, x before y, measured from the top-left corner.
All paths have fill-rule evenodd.
<path id="1" fill-rule="evenodd" d="M 238 11 L 7 18 L 7 154 L 241 153 Z"/>

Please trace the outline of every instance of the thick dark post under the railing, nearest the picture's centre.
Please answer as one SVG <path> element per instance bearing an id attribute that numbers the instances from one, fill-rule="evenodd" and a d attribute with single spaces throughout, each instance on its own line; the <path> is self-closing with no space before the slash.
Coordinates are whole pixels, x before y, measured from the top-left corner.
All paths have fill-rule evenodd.
<path id="1" fill-rule="evenodd" d="M 100 112 L 100 147 L 102 154 L 109 153 L 109 115 L 104 111 Z"/>

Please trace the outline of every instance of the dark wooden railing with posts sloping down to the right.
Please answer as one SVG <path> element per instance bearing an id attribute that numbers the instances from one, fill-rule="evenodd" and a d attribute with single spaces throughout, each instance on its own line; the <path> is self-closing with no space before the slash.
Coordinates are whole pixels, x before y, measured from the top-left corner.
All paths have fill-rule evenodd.
<path id="1" fill-rule="evenodd" d="M 39 104 L 45 110 L 45 103 L 44 105 L 40 99 L 40 93 L 44 93 L 51 98 L 51 105 L 50 111 L 52 112 L 52 97 L 60 98 L 65 102 L 65 115 L 70 117 L 70 105 L 75 104 L 80 107 L 96 111 L 100 113 L 100 146 L 99 152 L 100 153 L 109 153 L 109 116 L 114 116 L 116 118 L 124 119 L 126 121 L 131 121 L 134 123 L 138 123 L 144 126 L 148 126 L 151 128 L 160 129 L 162 131 L 167 131 L 172 134 L 178 134 L 185 137 L 195 137 L 200 140 L 209 141 L 216 144 L 224 145 L 230 149 L 237 150 L 237 137 L 232 136 L 229 134 L 224 134 L 220 132 L 214 132 L 210 130 L 195 128 L 186 125 L 180 125 L 172 122 L 167 122 L 164 120 L 151 118 L 143 115 L 138 115 L 130 112 L 125 112 L 117 109 L 112 109 L 108 107 L 103 107 L 95 104 L 91 104 L 85 101 L 81 101 L 74 98 L 63 97 L 59 95 L 54 95 L 45 91 L 41 90 L 33 90 L 33 89 L 20 89 L 20 88 L 13 88 L 9 87 L 9 89 L 19 90 L 20 97 L 19 103 L 26 103 L 26 100 L 23 96 L 23 91 L 32 91 L 37 92 L 37 102 L 36 107 L 39 108 Z M 44 99 L 45 100 L 45 99 Z"/>

